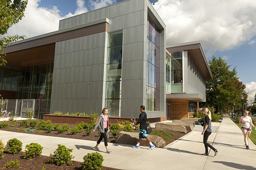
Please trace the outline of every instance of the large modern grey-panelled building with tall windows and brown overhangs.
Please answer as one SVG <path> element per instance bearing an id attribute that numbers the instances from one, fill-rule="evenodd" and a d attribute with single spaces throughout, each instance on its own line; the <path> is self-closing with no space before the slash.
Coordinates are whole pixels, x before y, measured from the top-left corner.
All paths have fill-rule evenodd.
<path id="1" fill-rule="evenodd" d="M 0 69 L 0 94 L 12 99 L 8 105 L 21 115 L 28 108 L 39 117 L 56 111 L 89 114 L 107 107 L 109 116 L 136 118 L 139 106 L 145 105 L 148 118 L 163 121 L 175 118 L 167 116 L 169 104 L 173 114 L 180 99 L 205 101 L 204 81 L 209 75 L 202 73 L 210 74 L 210 69 L 199 49 L 197 58 L 192 51 L 198 49 L 166 48 L 166 26 L 151 3 L 125 0 L 65 18 L 59 21 L 59 30 L 6 48 L 8 66 Z M 179 59 L 172 56 L 180 54 L 183 72 L 176 66 L 176 74 L 167 62 L 175 63 Z M 196 60 L 204 60 L 206 67 L 201 69 Z M 167 66 L 174 69 L 168 72 L 173 82 L 166 81 Z M 197 73 L 194 78 L 200 76 L 198 81 L 185 75 L 190 67 Z M 181 79 L 174 78 L 181 74 Z"/>

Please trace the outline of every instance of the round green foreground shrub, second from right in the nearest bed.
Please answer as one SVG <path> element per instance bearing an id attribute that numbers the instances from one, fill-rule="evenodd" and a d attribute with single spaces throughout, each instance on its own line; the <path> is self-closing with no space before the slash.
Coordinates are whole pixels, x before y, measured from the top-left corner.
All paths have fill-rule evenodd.
<path id="1" fill-rule="evenodd" d="M 73 159 L 74 157 L 70 154 L 70 152 L 72 152 L 73 149 L 68 149 L 66 148 L 66 146 L 64 145 L 58 145 L 58 148 L 56 149 L 56 151 L 52 153 L 50 153 L 50 162 L 57 164 L 57 165 L 61 165 L 61 164 L 67 164 L 70 165 L 71 164 L 71 159 Z"/>

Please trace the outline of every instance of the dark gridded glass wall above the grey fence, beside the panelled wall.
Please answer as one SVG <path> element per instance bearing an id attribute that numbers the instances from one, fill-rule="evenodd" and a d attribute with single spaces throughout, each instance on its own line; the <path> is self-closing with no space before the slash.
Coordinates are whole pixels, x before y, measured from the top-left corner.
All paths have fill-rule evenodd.
<path id="1" fill-rule="evenodd" d="M 53 63 L 19 68 L 16 99 L 50 100 Z"/>

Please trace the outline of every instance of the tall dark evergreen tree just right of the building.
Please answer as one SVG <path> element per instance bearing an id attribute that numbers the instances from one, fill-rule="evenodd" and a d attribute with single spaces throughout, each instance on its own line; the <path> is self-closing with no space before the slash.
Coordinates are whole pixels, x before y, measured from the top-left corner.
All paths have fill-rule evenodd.
<path id="1" fill-rule="evenodd" d="M 230 71 L 231 65 L 222 58 L 216 58 L 214 55 L 209 61 L 209 67 L 213 75 L 213 79 L 206 80 L 206 101 L 208 106 L 214 106 L 215 112 L 219 112 L 216 88 L 218 85 L 223 85 L 226 80 L 237 80 L 237 71 L 235 68 Z"/>

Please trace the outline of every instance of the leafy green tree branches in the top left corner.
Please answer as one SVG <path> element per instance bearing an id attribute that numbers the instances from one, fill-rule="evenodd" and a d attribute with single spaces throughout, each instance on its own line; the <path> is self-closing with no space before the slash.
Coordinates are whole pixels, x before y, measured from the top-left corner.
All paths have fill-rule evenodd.
<path id="1" fill-rule="evenodd" d="M 0 65 L 6 65 L 6 53 L 2 52 L 4 47 L 24 39 L 25 36 L 9 36 L 8 29 L 18 23 L 24 17 L 24 11 L 27 7 L 28 0 L 0 0 Z"/>

